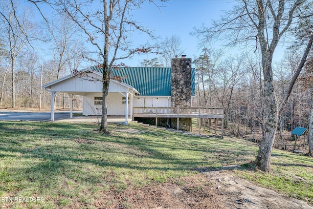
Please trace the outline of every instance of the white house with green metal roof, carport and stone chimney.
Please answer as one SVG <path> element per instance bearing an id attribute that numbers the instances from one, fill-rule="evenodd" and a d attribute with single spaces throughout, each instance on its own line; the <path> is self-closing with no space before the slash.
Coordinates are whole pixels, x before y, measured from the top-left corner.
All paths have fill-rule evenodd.
<path id="1" fill-rule="evenodd" d="M 172 59 L 172 67 L 117 67 L 112 68 L 112 77 L 108 93 L 108 116 L 124 116 L 125 123 L 133 118 L 167 118 L 167 125 L 174 128 L 191 130 L 191 117 L 211 117 L 212 112 L 192 107 L 195 94 L 195 73 L 191 59 Z M 51 93 L 51 106 L 55 95 L 67 93 L 81 95 L 83 115 L 101 115 L 102 107 L 102 68 L 86 68 L 78 75 L 53 81 L 43 86 Z M 72 103 L 71 117 L 72 117 Z M 180 109 L 179 109 L 180 108 Z M 220 108 L 221 109 L 221 108 Z M 199 110 L 199 111 L 198 111 Z M 221 117 L 215 114 L 213 117 Z M 169 119 L 170 123 L 169 124 Z M 51 107 L 51 120 L 54 121 L 54 109 Z"/>

